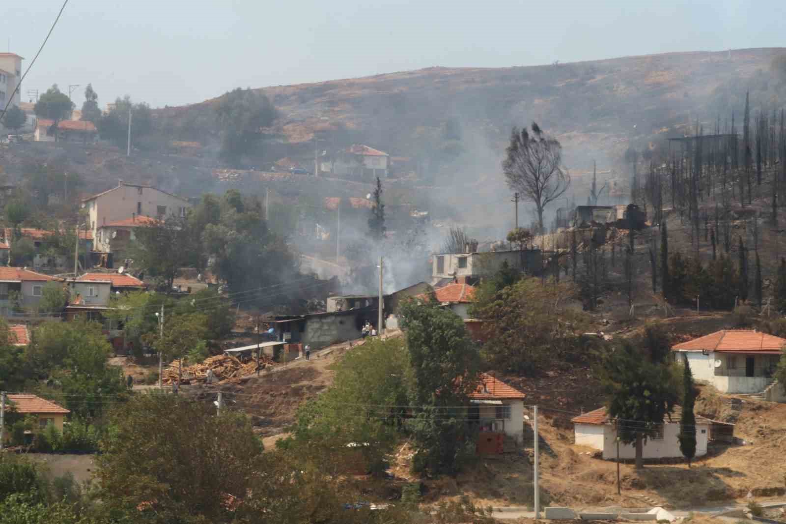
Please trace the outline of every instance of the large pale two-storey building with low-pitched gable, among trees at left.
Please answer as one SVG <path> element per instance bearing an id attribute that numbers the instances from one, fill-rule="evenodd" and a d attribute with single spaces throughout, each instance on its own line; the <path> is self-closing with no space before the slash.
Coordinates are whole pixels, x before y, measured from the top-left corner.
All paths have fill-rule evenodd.
<path id="1" fill-rule="evenodd" d="M 140 216 L 156 219 L 185 216 L 191 204 L 185 198 L 155 187 L 118 180 L 117 186 L 111 190 L 85 198 L 82 206 L 89 215 L 90 231 L 97 238 L 98 229 L 109 223 L 133 220 Z"/>

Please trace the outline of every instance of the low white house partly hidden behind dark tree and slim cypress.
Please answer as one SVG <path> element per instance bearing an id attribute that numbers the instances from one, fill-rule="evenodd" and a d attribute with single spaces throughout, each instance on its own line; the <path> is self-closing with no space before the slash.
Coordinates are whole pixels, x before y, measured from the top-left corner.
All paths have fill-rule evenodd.
<path id="1" fill-rule="evenodd" d="M 663 419 L 658 435 L 644 443 L 645 459 L 675 459 L 682 456 L 678 434 L 682 410 L 675 406 L 670 415 Z M 585 445 L 603 452 L 604 459 L 617 457 L 617 430 L 615 420 L 606 415 L 606 408 L 598 408 L 571 419 L 575 431 L 575 444 Z M 696 456 L 707 455 L 707 442 L 712 422 L 696 415 Z M 635 459 L 635 445 L 619 444 L 620 459 Z"/>

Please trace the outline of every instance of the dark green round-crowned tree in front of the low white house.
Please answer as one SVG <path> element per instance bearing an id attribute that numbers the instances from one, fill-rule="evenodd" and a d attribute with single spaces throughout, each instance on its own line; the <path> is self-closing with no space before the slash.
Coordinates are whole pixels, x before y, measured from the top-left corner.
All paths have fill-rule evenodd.
<path id="1" fill-rule="evenodd" d="M 652 329 L 652 328 L 650 328 Z M 678 400 L 673 370 L 663 361 L 663 338 L 648 335 L 655 341 L 642 354 L 639 341 L 621 341 L 603 359 L 598 370 L 607 396 L 608 415 L 617 419 L 617 436 L 624 444 L 634 444 L 636 468 L 644 467 L 643 446 L 648 437 L 654 437 Z M 652 360 L 652 359 L 656 360 Z"/>

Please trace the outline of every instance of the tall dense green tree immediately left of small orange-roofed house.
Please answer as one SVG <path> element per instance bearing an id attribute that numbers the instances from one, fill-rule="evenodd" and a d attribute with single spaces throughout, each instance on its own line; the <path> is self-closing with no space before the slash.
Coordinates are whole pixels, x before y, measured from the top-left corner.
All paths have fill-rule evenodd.
<path id="1" fill-rule="evenodd" d="M 464 322 L 435 301 L 404 301 L 400 307 L 406 348 L 412 366 L 410 404 L 415 415 L 407 421 L 413 434 L 416 470 L 454 473 L 474 442 L 465 418 L 468 394 L 477 386 L 479 355 Z"/>

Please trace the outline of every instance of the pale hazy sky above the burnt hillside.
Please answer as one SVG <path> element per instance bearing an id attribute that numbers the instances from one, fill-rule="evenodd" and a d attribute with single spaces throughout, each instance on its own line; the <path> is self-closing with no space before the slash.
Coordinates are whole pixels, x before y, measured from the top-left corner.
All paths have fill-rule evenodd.
<path id="1" fill-rule="evenodd" d="M 27 68 L 61 0 L 0 0 Z M 504 67 L 786 45 L 784 0 L 70 0 L 23 85 L 157 107 L 433 65 Z"/>

